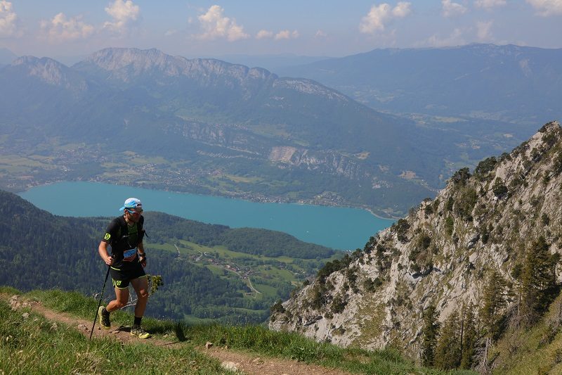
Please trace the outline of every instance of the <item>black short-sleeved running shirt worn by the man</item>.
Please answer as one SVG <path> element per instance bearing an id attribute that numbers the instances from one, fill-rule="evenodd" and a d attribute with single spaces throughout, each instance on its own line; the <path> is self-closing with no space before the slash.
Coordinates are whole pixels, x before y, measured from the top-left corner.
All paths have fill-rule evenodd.
<path id="1" fill-rule="evenodd" d="M 143 242 L 143 224 L 145 218 L 141 215 L 138 223 L 129 226 L 123 216 L 115 217 L 105 229 L 104 242 L 111 246 L 113 258 L 112 268 L 133 269 L 138 267 L 136 247 Z"/>

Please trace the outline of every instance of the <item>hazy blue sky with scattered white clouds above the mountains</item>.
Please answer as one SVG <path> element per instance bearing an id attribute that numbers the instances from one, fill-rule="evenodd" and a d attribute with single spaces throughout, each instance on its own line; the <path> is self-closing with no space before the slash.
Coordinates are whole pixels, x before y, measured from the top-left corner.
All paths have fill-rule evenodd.
<path id="1" fill-rule="evenodd" d="M 561 48 L 562 0 L 0 0 L 0 48 L 17 55 L 336 57 L 473 42 Z"/>

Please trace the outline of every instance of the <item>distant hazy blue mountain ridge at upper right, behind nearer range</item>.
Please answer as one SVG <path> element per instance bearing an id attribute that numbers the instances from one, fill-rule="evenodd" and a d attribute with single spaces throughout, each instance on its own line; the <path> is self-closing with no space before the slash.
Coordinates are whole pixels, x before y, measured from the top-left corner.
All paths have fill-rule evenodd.
<path id="1" fill-rule="evenodd" d="M 562 49 L 470 44 L 375 49 L 278 68 L 333 87 L 376 110 L 531 125 L 559 119 Z"/>

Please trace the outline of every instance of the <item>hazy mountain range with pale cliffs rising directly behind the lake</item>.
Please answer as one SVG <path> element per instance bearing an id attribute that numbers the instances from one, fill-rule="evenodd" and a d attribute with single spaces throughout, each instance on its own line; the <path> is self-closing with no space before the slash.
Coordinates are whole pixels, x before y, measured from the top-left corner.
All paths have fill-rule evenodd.
<path id="1" fill-rule="evenodd" d="M 0 95 L 11 191 L 90 179 L 401 215 L 528 132 L 389 115 L 312 80 L 156 49 L 72 67 L 23 56 L 0 69 Z"/>

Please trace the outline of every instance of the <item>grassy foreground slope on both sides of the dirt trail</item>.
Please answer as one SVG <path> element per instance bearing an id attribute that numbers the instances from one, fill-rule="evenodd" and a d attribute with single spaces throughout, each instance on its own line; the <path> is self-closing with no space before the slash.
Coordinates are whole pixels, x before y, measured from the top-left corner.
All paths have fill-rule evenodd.
<path id="1" fill-rule="evenodd" d="M 18 293 L 13 288 L 0 288 L 0 293 Z M 41 301 L 53 310 L 92 319 L 96 301 L 79 293 L 62 291 L 32 291 L 25 295 Z M 131 315 L 119 312 L 112 316 L 115 324 L 128 325 Z M 316 343 L 296 333 L 268 331 L 261 326 L 188 326 L 169 321 L 144 319 L 143 326 L 157 337 L 176 336 L 181 348 L 158 348 L 142 343 L 122 345 L 110 339 L 88 339 L 78 331 L 59 326 L 32 314 L 25 319 L 0 300 L 0 369 L 7 373 L 228 373 L 218 362 L 201 355 L 194 345 L 207 341 L 229 345 L 234 350 L 258 353 L 266 357 L 280 357 L 336 367 L 358 374 L 446 374 L 423 369 L 403 359 L 394 350 L 367 351 L 357 348 L 338 348 Z M 124 367 L 120 363 L 136 364 Z M 471 374 L 457 371 L 450 374 Z"/>

